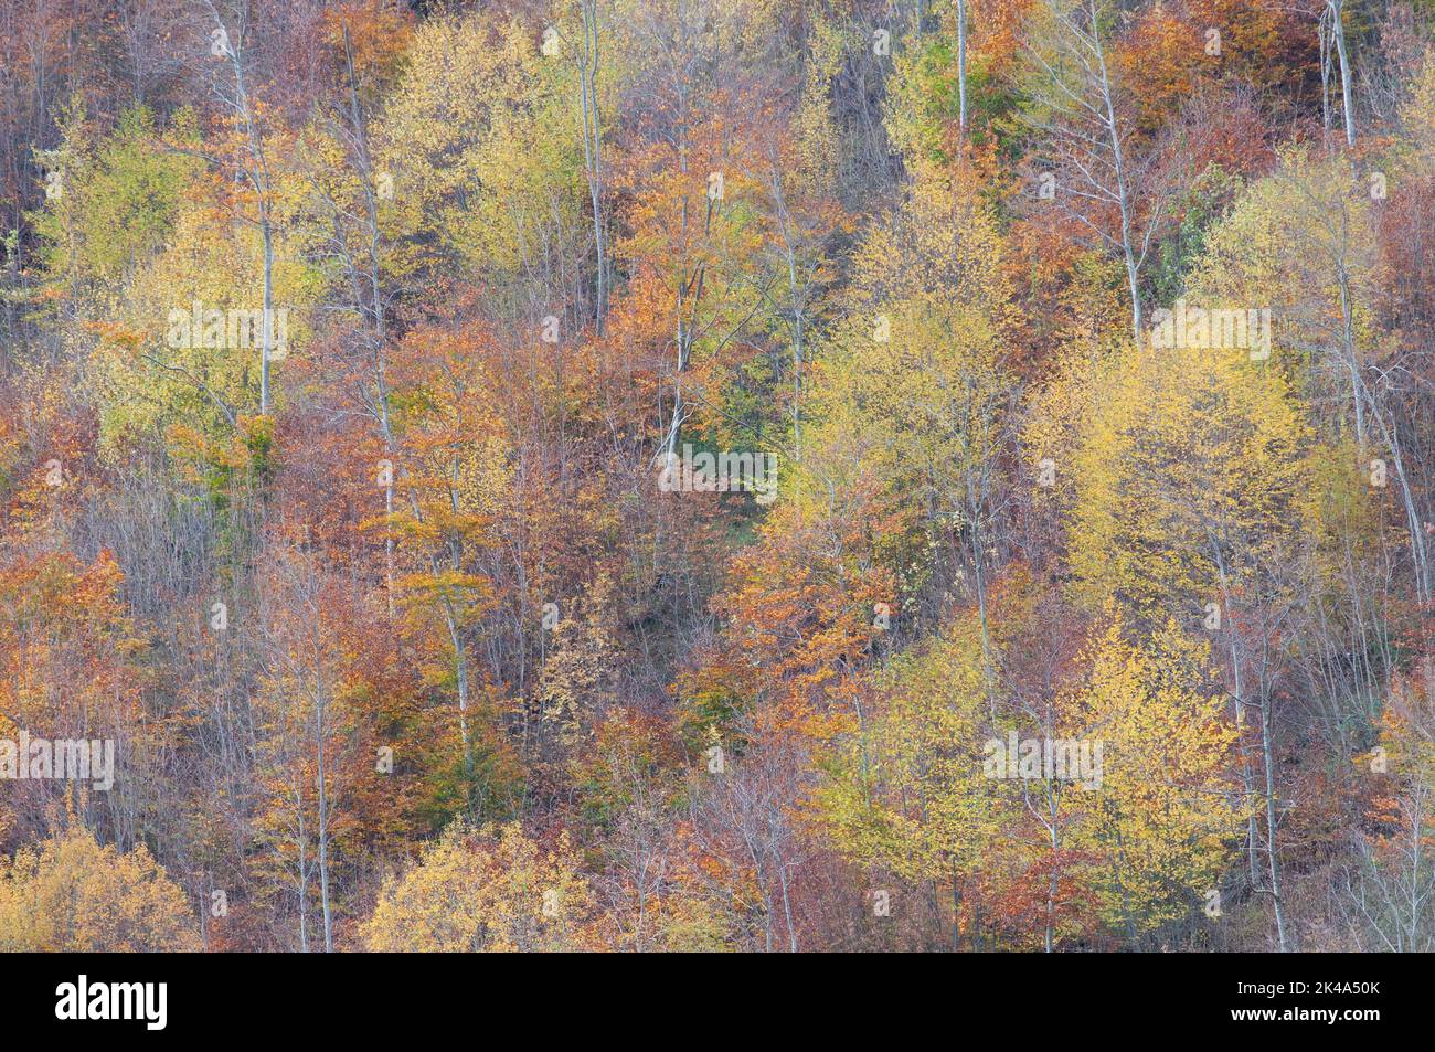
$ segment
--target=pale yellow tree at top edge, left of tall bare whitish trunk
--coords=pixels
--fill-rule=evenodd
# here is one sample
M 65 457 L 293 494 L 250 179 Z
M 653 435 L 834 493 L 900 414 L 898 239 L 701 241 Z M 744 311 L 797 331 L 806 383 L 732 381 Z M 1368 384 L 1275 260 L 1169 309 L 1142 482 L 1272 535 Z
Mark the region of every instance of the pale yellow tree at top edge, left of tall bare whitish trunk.
M 531 324 L 548 313 L 544 297 L 558 314 L 558 303 L 584 301 L 590 192 L 573 46 L 486 11 L 442 10 L 418 26 L 373 128 L 380 225 L 399 243 L 390 267 L 482 284 Z

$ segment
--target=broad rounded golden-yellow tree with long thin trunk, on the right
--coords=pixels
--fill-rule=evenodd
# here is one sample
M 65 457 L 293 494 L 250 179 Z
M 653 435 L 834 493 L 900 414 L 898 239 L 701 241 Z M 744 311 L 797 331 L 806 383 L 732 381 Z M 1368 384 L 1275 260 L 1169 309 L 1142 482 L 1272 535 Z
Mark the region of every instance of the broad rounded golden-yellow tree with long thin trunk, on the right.
M 1247 347 L 1118 347 L 1069 377 L 1053 385 L 1048 418 L 1065 423 L 1038 425 L 1029 439 L 1071 479 L 1072 590 L 1092 610 L 1114 601 L 1147 630 L 1175 619 L 1213 633 L 1237 720 L 1247 709 L 1261 716 L 1266 868 L 1284 941 L 1267 613 L 1293 598 L 1274 568 L 1309 512 L 1309 423 L 1286 373 L 1251 362 Z M 1248 764 L 1244 774 L 1257 792 Z M 1251 817 L 1260 886 L 1257 842 Z

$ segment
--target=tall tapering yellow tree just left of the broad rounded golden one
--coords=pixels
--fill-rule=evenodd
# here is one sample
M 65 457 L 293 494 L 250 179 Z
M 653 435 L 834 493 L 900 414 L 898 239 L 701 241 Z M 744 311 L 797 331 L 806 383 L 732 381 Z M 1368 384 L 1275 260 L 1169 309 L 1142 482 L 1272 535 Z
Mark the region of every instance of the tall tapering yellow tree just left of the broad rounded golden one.
M 933 574 L 964 577 L 957 560 L 970 565 L 984 649 L 992 497 L 1015 386 L 1004 366 L 1013 309 L 1003 260 L 974 189 L 918 165 L 903 207 L 854 258 L 851 309 L 814 399 L 822 423 L 812 471 L 821 471 L 824 443 L 841 448 L 854 433 L 871 442 L 893 507 L 916 527 L 916 535 L 888 538 L 905 548 L 908 590 Z M 957 565 L 934 564 L 944 541 Z

